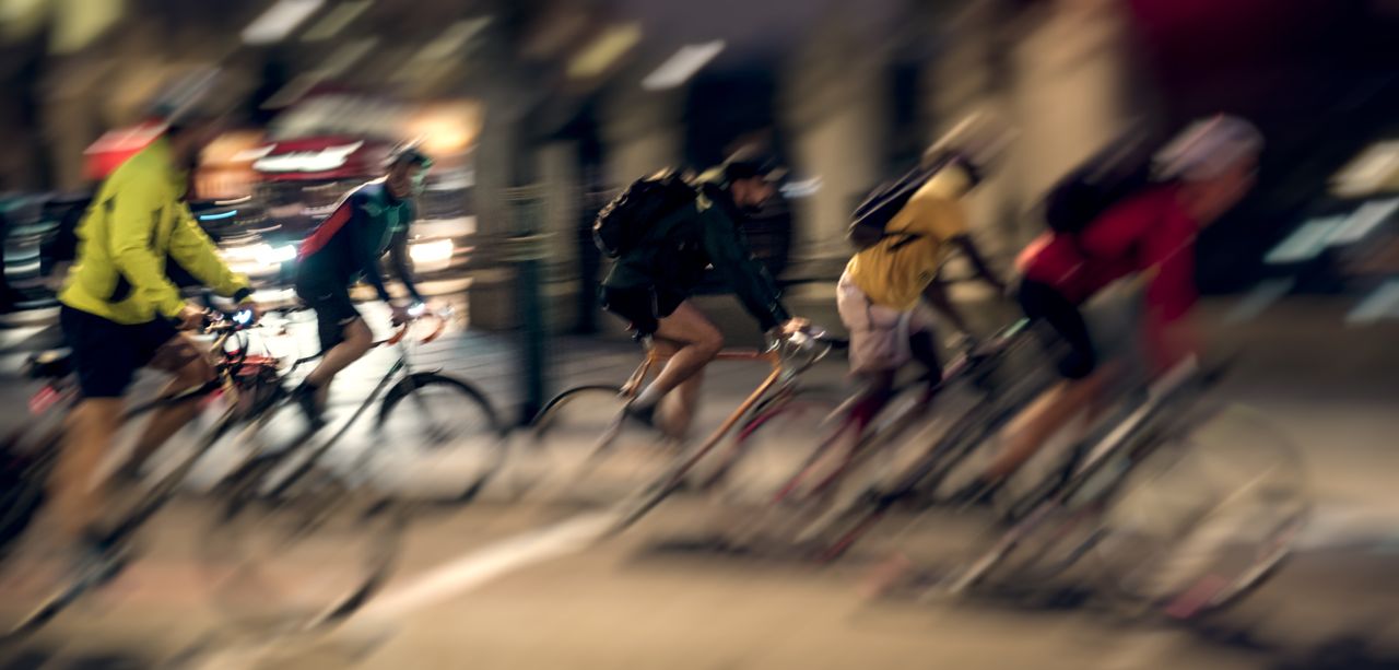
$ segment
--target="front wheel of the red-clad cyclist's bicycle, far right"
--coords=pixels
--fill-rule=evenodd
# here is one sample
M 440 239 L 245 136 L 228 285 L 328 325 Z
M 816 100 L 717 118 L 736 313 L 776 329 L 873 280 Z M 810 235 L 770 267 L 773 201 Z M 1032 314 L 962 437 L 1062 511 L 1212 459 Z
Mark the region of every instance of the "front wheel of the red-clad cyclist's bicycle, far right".
M 1298 452 L 1241 407 L 1165 434 L 1128 467 L 1094 555 L 1133 613 L 1192 618 L 1235 601 L 1284 559 L 1309 511 Z

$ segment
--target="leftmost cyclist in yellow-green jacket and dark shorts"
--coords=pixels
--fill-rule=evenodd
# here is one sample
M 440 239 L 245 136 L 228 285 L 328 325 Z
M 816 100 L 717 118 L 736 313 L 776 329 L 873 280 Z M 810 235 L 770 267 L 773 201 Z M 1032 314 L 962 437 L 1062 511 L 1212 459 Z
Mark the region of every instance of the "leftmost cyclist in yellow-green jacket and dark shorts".
M 229 271 L 185 203 L 187 171 L 220 129 L 217 112 L 199 105 L 157 105 L 164 134 L 99 187 L 78 222 L 77 262 L 59 295 L 59 323 L 73 348 L 81 400 L 67 420 L 53 474 L 55 508 L 60 530 L 87 550 L 85 558 L 105 565 L 115 553 L 111 534 L 99 526 L 102 485 L 91 483 L 122 424 L 122 396 L 133 375 L 143 366 L 172 373 L 168 393 L 214 375 L 179 333 L 199 326 L 204 311 L 180 297 L 165 274 L 166 259 L 256 316 L 248 278 Z M 197 403 L 158 410 L 126 471 L 139 470 L 196 411 Z

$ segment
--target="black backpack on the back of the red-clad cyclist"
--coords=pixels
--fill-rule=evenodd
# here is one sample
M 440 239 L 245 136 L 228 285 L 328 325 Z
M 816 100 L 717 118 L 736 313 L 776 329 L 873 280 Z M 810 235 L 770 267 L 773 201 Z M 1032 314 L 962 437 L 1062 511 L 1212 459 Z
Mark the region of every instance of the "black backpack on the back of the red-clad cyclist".
M 1109 143 L 1049 189 L 1045 224 L 1077 235 L 1115 204 L 1146 190 L 1153 183 L 1154 150 L 1156 143 L 1136 130 Z

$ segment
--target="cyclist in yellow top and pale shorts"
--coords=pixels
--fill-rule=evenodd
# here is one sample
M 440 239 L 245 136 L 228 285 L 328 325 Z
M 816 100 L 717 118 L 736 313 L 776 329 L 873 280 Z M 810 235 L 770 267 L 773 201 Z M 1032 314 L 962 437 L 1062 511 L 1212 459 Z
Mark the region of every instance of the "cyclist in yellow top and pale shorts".
M 884 236 L 845 266 L 837 284 L 837 308 L 851 333 L 851 372 L 866 385 L 865 397 L 853 410 L 858 428 L 888 403 L 894 376 L 909 358 L 928 371 L 925 401 L 932 400 L 932 390 L 942 382 L 932 319 L 921 298 L 937 306 L 960 333 L 968 333 L 937 280 L 949 245 L 968 257 L 978 278 L 996 288 L 997 295 L 1006 294 L 1006 285 L 968 235 L 960 201 L 977 187 L 1003 145 L 1004 133 L 983 117 L 958 124 L 923 154 L 921 168 L 936 172 L 890 218 Z

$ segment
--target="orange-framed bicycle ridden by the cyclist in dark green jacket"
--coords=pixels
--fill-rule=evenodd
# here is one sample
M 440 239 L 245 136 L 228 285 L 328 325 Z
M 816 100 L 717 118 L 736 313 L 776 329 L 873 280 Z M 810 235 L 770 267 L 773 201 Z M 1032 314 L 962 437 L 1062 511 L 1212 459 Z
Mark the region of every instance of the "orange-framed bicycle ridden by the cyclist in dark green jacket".
M 824 333 L 809 329 L 778 338 L 762 351 L 720 351 L 716 357 L 718 361 L 767 362 L 771 371 L 704 442 L 680 453 L 659 450 L 662 473 L 651 477 L 652 481 L 639 491 L 632 488 L 635 485 L 632 477 L 621 477 L 623 485 L 632 492 L 617 505 L 617 519 L 610 532 L 625 530 L 681 488 L 695 466 L 753 413 L 790 400 L 796 394 L 796 383 L 802 372 L 816 365 L 841 344 L 841 340 L 825 337 Z M 561 442 L 564 441 L 561 436 L 586 436 L 585 439 L 590 443 L 581 459 L 582 463 L 565 474 L 568 484 L 578 484 L 581 480 L 589 478 L 597 469 L 600 459 L 618 450 L 617 443 L 625 427 L 623 408 L 639 393 L 648 375 L 663 362 L 665 355 L 653 347 L 648 347 L 641 365 L 621 386 L 578 386 L 564 390 L 544 404 L 544 408 L 530 422 L 536 448 L 541 449 L 551 438 Z M 599 422 L 603 424 L 600 429 Z M 653 441 L 648 442 L 645 449 L 651 455 L 658 455 Z

